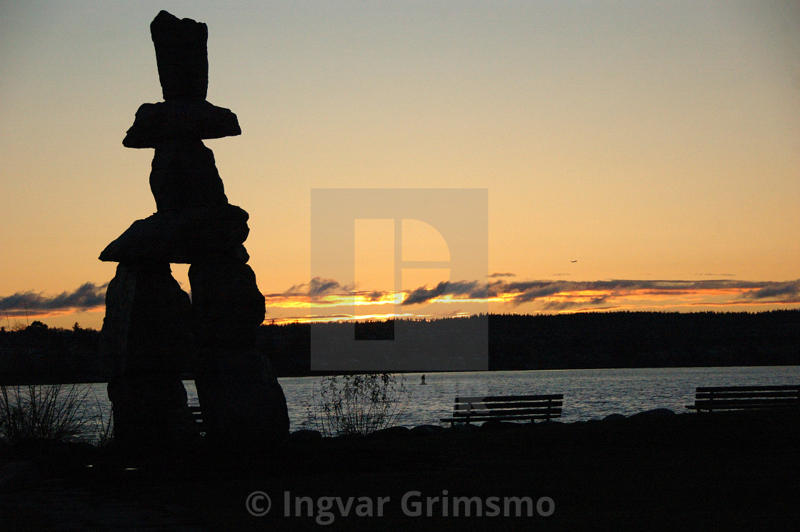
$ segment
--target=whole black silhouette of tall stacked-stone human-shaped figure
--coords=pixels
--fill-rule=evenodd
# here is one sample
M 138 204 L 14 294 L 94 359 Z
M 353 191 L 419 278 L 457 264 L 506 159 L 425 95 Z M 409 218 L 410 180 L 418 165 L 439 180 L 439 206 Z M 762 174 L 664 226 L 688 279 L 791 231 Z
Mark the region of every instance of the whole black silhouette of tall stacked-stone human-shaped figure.
M 257 349 L 264 297 L 243 245 L 248 214 L 230 205 L 206 138 L 241 134 L 230 110 L 206 101 L 205 24 L 161 11 L 150 24 L 163 102 L 139 107 L 122 144 L 154 148 L 157 212 L 100 254 L 118 262 L 106 291 L 103 351 L 120 446 L 183 450 L 200 434 L 186 406 L 181 362 L 194 361 L 206 438 L 252 450 L 286 438 L 286 398 Z M 191 299 L 170 263 L 190 264 Z

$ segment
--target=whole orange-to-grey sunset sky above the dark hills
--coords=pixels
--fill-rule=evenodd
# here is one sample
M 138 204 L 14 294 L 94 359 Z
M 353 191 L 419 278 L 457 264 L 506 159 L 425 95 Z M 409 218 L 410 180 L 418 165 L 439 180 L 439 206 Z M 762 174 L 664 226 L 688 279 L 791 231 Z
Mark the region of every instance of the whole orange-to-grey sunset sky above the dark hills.
M 206 146 L 267 320 L 800 306 L 798 2 L 10 1 L 0 325 L 102 325 L 98 254 L 155 210 L 153 150 L 122 138 L 162 99 L 162 9 L 209 26 L 208 100 L 242 135 Z M 312 272 L 311 191 L 335 188 L 486 190 L 486 274 L 395 286 L 379 219 L 352 276 Z M 402 260 L 449 259 L 397 223 Z

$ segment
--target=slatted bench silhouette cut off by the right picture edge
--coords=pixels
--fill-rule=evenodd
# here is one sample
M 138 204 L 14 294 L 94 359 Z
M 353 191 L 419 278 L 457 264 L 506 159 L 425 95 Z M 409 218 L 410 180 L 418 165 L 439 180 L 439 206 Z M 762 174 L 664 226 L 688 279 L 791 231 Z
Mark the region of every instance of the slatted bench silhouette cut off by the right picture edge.
M 690 410 L 800 409 L 800 385 L 698 386 Z

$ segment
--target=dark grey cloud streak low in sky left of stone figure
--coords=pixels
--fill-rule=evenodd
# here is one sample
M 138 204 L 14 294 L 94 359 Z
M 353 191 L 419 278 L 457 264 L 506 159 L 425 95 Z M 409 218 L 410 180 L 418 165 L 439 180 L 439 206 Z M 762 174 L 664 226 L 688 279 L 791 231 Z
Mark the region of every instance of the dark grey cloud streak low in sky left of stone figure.
M 58 295 L 45 295 L 42 292 L 28 290 L 16 294 L 0 297 L 0 311 L 11 316 L 30 314 L 60 313 L 67 310 L 91 310 L 106 304 L 106 287 L 86 282 L 72 292 L 62 292 Z

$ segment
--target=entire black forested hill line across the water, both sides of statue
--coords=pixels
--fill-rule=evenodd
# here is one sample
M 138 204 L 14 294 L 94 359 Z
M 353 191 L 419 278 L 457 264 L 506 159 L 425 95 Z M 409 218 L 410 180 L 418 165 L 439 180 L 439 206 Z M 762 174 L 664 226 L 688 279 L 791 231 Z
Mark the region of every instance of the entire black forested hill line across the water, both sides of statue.
M 390 340 L 394 322 L 363 322 L 356 339 Z M 314 326 L 332 332 L 347 323 Z M 488 330 L 490 370 L 555 370 L 692 366 L 800 365 L 800 310 L 759 313 L 608 312 L 489 314 L 404 321 L 403 331 L 434 339 L 465 330 Z M 475 327 L 475 329 L 472 329 Z M 279 377 L 312 374 L 310 324 L 264 325 L 259 348 Z M 405 334 L 405 333 L 404 333 Z M 0 329 L 0 384 L 106 382 L 100 333 L 51 329 L 34 322 Z M 182 360 L 191 373 L 191 360 Z

